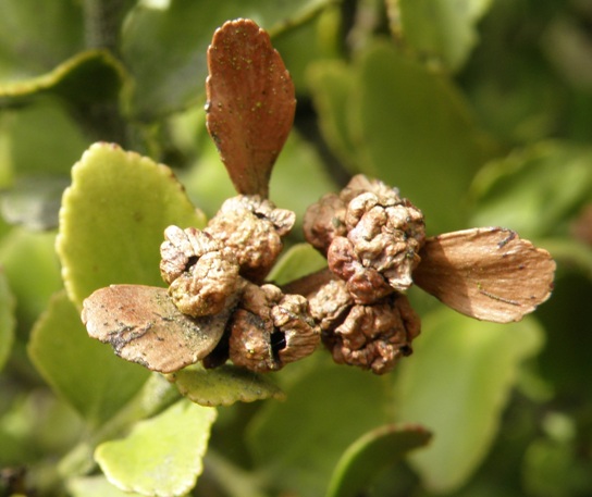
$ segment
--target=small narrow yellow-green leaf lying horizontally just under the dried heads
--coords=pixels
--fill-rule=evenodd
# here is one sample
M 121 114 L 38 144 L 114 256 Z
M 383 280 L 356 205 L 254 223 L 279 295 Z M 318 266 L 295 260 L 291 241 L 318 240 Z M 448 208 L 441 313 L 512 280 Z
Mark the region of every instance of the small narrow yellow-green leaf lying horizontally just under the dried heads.
M 231 406 L 285 395 L 268 376 L 225 364 L 206 370 L 201 364 L 185 368 L 166 376 L 181 395 L 201 406 Z

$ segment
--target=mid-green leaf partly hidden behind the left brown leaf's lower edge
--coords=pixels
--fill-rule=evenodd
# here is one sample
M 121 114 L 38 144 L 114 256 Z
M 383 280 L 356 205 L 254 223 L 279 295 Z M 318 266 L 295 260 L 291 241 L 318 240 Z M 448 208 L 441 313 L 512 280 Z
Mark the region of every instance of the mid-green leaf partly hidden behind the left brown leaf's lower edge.
M 28 353 L 51 387 L 90 424 L 111 418 L 149 372 L 88 337 L 65 293 L 57 294 L 32 331 Z

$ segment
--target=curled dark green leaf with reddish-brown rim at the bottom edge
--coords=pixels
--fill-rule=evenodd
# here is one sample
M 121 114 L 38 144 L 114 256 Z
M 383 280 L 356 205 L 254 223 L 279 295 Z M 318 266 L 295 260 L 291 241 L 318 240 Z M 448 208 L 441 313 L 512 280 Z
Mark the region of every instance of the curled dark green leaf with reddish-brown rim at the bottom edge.
M 362 495 L 372 477 L 399 462 L 410 450 L 430 442 L 421 426 L 387 424 L 362 435 L 344 452 L 329 484 L 326 497 Z

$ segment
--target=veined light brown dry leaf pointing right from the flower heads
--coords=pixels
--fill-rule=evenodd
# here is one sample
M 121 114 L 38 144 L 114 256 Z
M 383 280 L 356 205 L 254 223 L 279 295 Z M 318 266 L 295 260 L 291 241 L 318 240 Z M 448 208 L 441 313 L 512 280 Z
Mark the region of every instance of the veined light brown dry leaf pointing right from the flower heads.
M 546 250 L 509 229 L 483 227 L 428 238 L 414 282 L 446 306 L 479 320 L 519 321 L 553 289 Z

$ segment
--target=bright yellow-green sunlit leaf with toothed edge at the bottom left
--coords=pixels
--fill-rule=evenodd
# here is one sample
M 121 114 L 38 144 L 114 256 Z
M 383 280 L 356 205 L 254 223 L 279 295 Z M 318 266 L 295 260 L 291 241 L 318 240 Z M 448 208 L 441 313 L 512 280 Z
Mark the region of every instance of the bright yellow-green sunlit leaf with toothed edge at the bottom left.
M 137 423 L 127 437 L 101 444 L 95 459 L 107 479 L 124 492 L 182 496 L 201 474 L 215 415 L 212 408 L 178 401 Z

